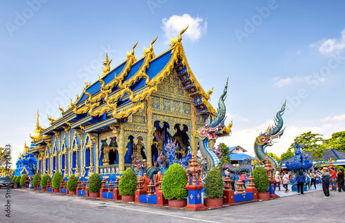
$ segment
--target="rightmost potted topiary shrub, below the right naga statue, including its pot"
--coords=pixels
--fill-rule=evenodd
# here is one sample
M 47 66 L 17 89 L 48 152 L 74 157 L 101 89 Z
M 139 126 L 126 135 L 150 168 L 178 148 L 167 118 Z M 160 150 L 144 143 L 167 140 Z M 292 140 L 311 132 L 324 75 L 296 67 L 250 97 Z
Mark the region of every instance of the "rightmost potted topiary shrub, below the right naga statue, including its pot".
M 255 178 L 254 184 L 257 188 L 257 199 L 270 200 L 270 180 L 264 168 L 257 166 L 253 171 L 253 177 Z

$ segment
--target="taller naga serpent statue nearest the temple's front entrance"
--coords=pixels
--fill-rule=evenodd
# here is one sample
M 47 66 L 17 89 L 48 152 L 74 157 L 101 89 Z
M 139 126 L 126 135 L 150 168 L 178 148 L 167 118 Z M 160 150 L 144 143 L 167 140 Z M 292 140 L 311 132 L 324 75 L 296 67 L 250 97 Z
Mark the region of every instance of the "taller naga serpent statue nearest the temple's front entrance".
M 208 167 L 210 168 L 212 168 L 213 166 L 217 166 L 220 161 L 216 153 L 213 152 L 212 149 L 208 146 L 208 142 L 210 140 L 217 139 L 216 133 L 223 130 L 224 128 L 224 121 L 226 119 L 224 100 L 226 99 L 227 92 L 228 80 L 226 80 L 223 94 L 221 94 L 221 96 L 219 97 L 217 114 L 213 118 L 212 122 L 210 121 L 210 117 L 208 117 L 208 120 L 205 122 L 204 126 L 197 130 L 201 155 L 204 157 L 204 159 L 207 160 Z

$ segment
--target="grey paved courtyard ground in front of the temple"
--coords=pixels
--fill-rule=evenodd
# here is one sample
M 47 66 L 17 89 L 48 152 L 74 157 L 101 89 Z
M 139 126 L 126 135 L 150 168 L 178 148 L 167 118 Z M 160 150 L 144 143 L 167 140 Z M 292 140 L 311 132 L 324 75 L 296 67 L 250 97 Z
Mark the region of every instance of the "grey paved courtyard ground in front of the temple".
M 192 212 L 29 189 L 11 189 L 10 196 L 11 217 L 6 217 L 3 209 L 0 222 L 342 222 L 345 199 L 343 192 L 331 192 L 331 198 L 322 198 L 319 190 Z M 4 207 L 6 189 L 0 189 L 0 197 Z

